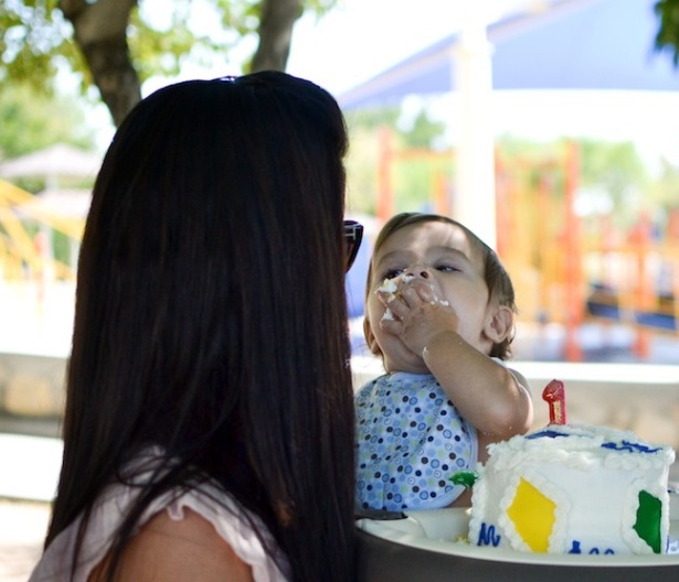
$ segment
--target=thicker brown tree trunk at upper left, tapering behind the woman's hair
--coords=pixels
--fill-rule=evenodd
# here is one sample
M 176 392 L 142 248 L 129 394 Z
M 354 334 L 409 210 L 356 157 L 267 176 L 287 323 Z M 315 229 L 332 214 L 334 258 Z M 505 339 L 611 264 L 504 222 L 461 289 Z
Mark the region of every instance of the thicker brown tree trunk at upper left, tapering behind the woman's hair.
M 129 15 L 136 6 L 137 0 L 59 1 L 59 8 L 73 24 L 75 42 L 116 127 L 141 99 L 126 36 Z

